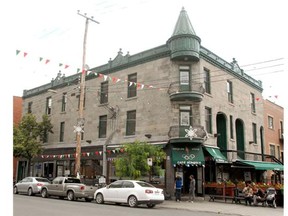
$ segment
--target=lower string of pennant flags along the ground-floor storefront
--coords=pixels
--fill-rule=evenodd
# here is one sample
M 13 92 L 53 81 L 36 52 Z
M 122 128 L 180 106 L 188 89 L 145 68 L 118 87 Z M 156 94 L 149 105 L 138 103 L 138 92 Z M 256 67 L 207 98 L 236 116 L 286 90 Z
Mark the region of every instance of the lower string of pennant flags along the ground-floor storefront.
M 106 150 L 107 154 L 111 155 L 111 154 L 118 154 L 118 153 L 123 153 L 125 152 L 124 148 L 120 148 L 120 149 L 113 149 L 113 150 Z M 95 152 L 82 152 L 81 155 L 83 157 L 90 157 L 90 156 L 98 156 L 98 155 L 102 155 L 103 151 L 95 151 Z M 47 158 L 59 158 L 59 159 L 64 159 L 64 158 L 76 158 L 77 153 L 73 153 L 73 154 L 49 154 L 49 155 L 38 155 L 39 158 L 43 158 L 43 159 L 47 159 Z

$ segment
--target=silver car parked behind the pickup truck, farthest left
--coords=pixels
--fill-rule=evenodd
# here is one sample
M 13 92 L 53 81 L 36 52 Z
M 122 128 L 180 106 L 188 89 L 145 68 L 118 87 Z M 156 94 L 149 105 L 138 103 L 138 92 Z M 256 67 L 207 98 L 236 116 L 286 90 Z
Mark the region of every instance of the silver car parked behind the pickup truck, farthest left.
M 27 193 L 29 196 L 40 194 L 44 185 L 50 184 L 47 178 L 26 177 L 14 185 L 14 194 Z

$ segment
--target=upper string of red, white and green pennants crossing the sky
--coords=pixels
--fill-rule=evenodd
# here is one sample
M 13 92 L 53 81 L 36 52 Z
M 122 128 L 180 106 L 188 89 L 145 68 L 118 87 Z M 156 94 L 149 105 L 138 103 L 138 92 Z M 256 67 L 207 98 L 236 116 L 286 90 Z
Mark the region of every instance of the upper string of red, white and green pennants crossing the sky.
M 20 53 L 23 53 L 23 57 L 24 57 L 24 58 L 27 57 L 27 55 L 28 55 L 27 52 L 22 52 L 21 50 L 16 50 L 16 55 L 17 55 L 17 56 L 20 56 Z M 39 61 L 40 61 L 40 62 L 44 62 L 45 64 L 48 64 L 48 63 L 51 62 L 50 59 L 44 59 L 43 57 L 39 57 Z M 63 63 L 58 63 L 58 66 L 59 66 L 59 67 L 64 67 L 64 69 L 67 69 L 67 68 L 70 67 L 70 65 L 68 65 L 68 64 L 63 64 Z M 80 70 L 81 70 L 80 68 L 77 68 L 77 73 L 79 73 Z M 83 68 L 83 69 L 82 69 L 82 73 L 86 73 L 86 72 L 87 72 L 87 70 L 85 70 L 85 69 Z M 137 89 L 143 89 L 144 87 L 146 87 L 146 88 L 149 88 L 149 89 L 165 90 L 164 88 L 157 88 L 157 87 L 154 87 L 153 85 L 147 85 L 147 84 L 142 84 L 142 83 L 131 82 L 131 81 L 128 81 L 128 80 L 126 80 L 126 79 L 125 79 L 125 80 L 121 80 L 121 79 L 119 79 L 119 78 L 117 78 L 117 77 L 110 77 L 110 76 L 108 76 L 108 75 L 104 75 L 104 74 L 97 73 L 97 72 L 92 72 L 92 73 L 95 74 L 96 76 L 99 76 L 99 78 L 103 78 L 104 81 L 107 81 L 107 80 L 109 79 L 109 80 L 112 81 L 114 84 L 116 84 L 116 83 L 118 83 L 118 82 L 129 82 L 129 87 L 131 87 L 132 85 L 134 85 L 134 86 L 137 87 Z M 269 95 L 268 97 L 269 97 L 270 99 L 271 99 L 272 97 L 274 97 L 275 99 L 278 99 L 278 95 L 273 95 L 273 96 Z M 255 98 L 255 99 L 256 99 L 256 101 L 260 101 L 261 98 L 257 97 L 257 98 Z

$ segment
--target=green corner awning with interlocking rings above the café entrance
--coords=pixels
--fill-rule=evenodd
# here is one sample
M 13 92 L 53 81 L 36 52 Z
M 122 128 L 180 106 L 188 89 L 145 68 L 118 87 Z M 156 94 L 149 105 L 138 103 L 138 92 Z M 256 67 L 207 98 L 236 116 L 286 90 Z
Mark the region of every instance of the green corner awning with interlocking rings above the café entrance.
M 172 163 L 173 165 L 204 165 L 202 146 L 173 146 Z

